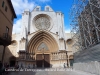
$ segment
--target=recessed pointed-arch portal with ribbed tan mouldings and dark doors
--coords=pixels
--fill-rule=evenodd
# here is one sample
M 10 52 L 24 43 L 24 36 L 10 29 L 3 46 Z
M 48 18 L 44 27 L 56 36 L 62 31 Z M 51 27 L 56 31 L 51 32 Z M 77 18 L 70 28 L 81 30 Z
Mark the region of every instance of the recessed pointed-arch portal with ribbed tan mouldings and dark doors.
M 51 52 L 58 50 L 58 44 L 54 37 L 48 32 L 41 31 L 36 33 L 28 44 L 28 54 L 35 57 L 36 66 L 38 68 L 50 67 Z M 34 54 L 34 56 L 32 56 Z

